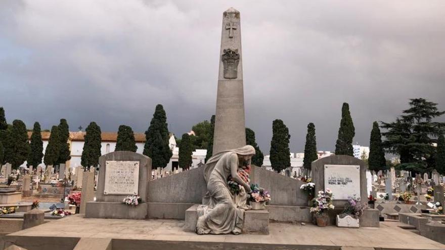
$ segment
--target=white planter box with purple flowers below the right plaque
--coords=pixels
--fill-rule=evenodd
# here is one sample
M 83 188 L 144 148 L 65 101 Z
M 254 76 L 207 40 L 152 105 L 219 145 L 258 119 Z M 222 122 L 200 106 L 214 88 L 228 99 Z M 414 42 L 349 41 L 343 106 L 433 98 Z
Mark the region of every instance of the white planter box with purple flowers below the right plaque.
M 364 210 L 365 204 L 360 201 L 360 198 L 349 197 L 343 212 L 337 215 L 337 227 L 359 227 L 359 218 Z

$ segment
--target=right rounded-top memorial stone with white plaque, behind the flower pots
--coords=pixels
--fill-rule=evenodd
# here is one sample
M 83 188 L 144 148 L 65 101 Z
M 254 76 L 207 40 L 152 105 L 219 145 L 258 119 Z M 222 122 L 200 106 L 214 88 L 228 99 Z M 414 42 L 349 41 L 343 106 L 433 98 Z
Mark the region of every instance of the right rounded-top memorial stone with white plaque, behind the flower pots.
M 364 161 L 343 155 L 332 155 L 312 162 L 311 172 L 315 183 L 315 193 L 332 190 L 334 210 L 328 212 L 329 224 L 335 224 L 335 218 L 340 214 L 348 197 L 360 197 L 363 203 L 367 203 L 367 166 Z M 360 226 L 378 227 L 379 211 L 366 209 L 360 218 Z

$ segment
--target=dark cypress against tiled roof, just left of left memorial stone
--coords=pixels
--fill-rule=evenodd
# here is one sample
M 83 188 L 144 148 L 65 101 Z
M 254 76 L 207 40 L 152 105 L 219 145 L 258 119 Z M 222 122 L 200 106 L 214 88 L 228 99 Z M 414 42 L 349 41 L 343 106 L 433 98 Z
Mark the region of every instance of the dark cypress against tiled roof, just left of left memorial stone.
M 101 128 L 95 123 L 91 122 L 85 129 L 84 144 L 80 164 L 84 170 L 90 170 L 91 167 L 99 165 L 99 157 L 101 157 Z

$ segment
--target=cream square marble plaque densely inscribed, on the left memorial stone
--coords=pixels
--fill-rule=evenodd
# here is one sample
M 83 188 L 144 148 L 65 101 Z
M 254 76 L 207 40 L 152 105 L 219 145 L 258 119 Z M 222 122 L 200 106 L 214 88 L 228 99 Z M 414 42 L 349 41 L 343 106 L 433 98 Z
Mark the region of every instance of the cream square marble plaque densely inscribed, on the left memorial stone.
M 106 161 L 104 194 L 137 195 L 139 161 Z

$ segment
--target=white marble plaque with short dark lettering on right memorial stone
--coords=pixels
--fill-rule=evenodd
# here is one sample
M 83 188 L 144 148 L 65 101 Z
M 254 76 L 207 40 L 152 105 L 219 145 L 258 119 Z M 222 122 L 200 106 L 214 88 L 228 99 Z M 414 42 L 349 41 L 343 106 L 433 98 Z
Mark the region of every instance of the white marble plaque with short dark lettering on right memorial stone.
M 360 197 L 359 165 L 325 165 L 325 189 L 332 190 L 333 199 Z

